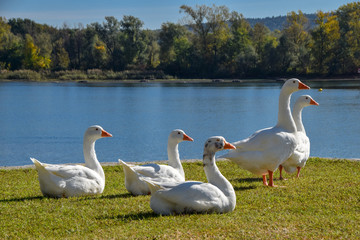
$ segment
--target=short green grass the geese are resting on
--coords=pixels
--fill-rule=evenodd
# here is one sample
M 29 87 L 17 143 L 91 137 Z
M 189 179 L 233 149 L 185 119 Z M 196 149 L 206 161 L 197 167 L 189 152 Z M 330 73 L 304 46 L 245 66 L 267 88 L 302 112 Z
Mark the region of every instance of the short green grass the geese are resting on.
M 200 162 L 183 165 L 187 179 L 206 181 Z M 0 239 L 359 239 L 360 162 L 311 158 L 299 179 L 277 180 L 281 188 L 218 166 L 235 210 L 178 216 L 158 216 L 150 196 L 128 194 L 119 166 L 104 167 L 101 196 L 67 199 L 43 197 L 34 169 L 0 170 Z

